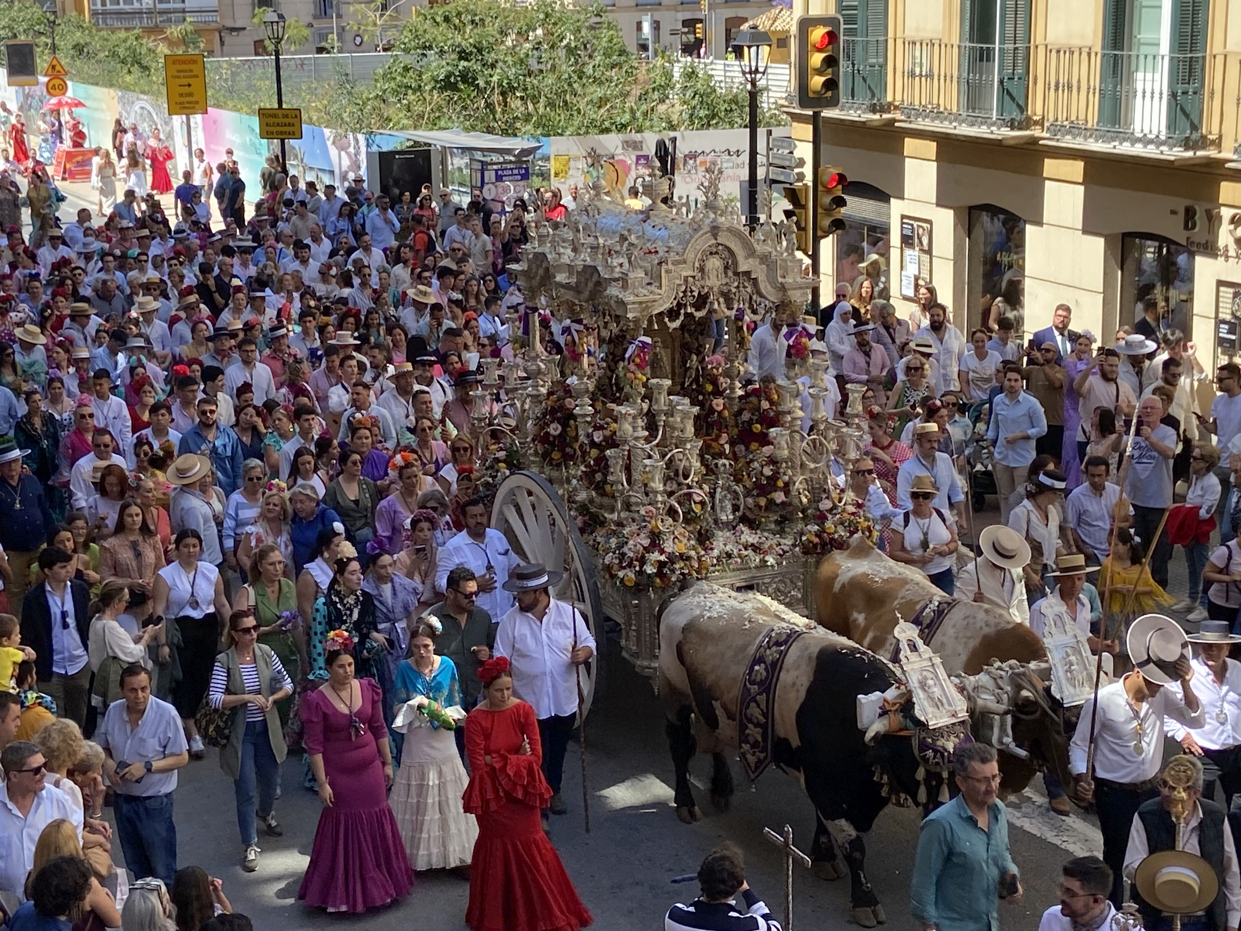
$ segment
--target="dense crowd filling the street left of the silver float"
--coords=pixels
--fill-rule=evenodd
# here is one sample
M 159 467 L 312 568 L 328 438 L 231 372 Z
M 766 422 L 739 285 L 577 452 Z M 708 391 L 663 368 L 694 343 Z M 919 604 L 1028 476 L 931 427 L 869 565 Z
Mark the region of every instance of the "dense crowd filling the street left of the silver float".
M 247 871 L 303 756 L 310 906 L 457 869 L 475 931 L 589 924 L 549 832 L 594 641 L 475 480 L 472 392 L 511 351 L 526 205 L 320 194 L 274 156 L 252 204 L 231 158 L 197 151 L 174 189 L 154 133 L 118 123 L 112 149 L 98 212 L 61 223 L 30 196 L 30 232 L 17 212 L 0 246 L 0 765 L 30 803 L 0 883 L 14 921 L 240 927 L 179 893 L 201 878 L 230 911 L 179 869 L 174 816 L 179 771 L 218 747 Z M 89 884 L 37 853 L 53 834 Z

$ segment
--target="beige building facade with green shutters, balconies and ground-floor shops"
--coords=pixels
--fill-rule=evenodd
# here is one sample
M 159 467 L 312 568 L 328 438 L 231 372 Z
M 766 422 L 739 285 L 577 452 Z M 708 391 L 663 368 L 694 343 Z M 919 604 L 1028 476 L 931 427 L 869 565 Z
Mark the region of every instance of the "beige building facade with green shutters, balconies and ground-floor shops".
M 797 2 L 845 30 L 825 294 L 877 252 L 898 313 L 930 282 L 967 333 L 1065 303 L 1111 340 L 1154 298 L 1205 365 L 1239 354 L 1241 0 Z

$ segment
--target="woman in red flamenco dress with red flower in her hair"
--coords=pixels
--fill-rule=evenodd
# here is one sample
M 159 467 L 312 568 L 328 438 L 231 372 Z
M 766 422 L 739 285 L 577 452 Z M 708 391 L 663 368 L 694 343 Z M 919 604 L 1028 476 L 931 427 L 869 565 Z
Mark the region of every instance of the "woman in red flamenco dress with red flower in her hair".
M 478 678 L 486 701 L 465 721 L 472 776 L 462 802 L 478 818 L 465 924 L 472 931 L 577 931 L 591 912 L 539 817 L 551 801 L 539 721 L 513 698 L 508 659 L 486 660 Z

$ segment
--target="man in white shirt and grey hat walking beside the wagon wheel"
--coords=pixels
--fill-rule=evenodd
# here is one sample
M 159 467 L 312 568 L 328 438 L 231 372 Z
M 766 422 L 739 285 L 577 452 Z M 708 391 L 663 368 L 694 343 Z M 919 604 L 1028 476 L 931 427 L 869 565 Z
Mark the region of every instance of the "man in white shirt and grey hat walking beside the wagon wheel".
M 581 667 L 594 655 L 594 637 L 572 605 L 551 597 L 562 572 L 541 562 L 516 566 L 504 590 L 516 606 L 500 619 L 493 653 L 511 664 L 513 694 L 530 703 L 539 719 L 542 770 L 551 786 L 551 812 L 566 812 L 560 792 L 565 751 L 582 695 Z M 546 812 L 544 813 L 546 818 Z

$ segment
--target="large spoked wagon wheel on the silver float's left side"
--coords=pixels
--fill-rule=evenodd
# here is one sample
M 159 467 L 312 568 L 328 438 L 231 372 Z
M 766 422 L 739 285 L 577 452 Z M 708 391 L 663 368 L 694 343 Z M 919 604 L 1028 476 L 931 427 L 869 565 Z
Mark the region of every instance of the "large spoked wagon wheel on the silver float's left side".
M 591 710 L 596 690 L 603 690 L 603 653 L 607 649 L 593 554 L 582 542 L 563 499 L 547 479 L 534 472 L 515 472 L 504 479 L 491 505 L 491 526 L 504 534 L 524 562 L 542 562 L 565 573 L 551 588 L 551 595 L 576 607 L 594 637 L 594 657 L 577 668 L 582 684 L 578 721 L 582 721 Z

